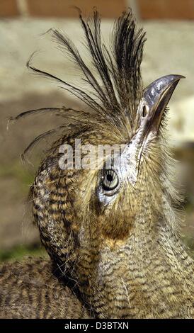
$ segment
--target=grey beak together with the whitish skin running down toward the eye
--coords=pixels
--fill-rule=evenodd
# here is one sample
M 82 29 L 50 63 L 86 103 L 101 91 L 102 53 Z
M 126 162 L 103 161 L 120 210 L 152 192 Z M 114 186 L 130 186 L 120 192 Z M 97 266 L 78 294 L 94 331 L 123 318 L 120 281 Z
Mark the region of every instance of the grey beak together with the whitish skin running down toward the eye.
M 127 180 L 131 184 L 137 181 L 144 142 L 147 137 L 152 140 L 159 132 L 162 115 L 180 79 L 183 79 L 182 75 L 166 75 L 144 89 L 137 111 L 138 129 L 123 150 L 118 168 L 122 171 L 122 176 L 127 174 Z

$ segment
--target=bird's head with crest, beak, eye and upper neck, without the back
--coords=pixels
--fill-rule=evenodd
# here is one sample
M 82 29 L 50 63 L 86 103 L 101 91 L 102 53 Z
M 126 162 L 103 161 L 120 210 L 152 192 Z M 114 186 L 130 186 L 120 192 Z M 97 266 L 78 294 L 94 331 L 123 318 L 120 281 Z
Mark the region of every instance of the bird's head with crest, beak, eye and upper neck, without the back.
M 101 40 L 98 13 L 89 21 L 81 14 L 80 19 L 93 70 L 66 36 L 57 30 L 52 35 L 81 69 L 87 89 L 28 62 L 30 69 L 57 80 L 86 103 L 84 111 L 54 110 L 66 123 L 57 128 L 62 135 L 42 162 L 32 195 L 35 222 L 47 252 L 89 294 L 95 286 L 96 290 L 108 286 L 114 261 L 119 264 L 111 279 L 126 280 L 130 260 L 149 246 L 152 230 L 157 234 L 160 227 L 175 225 L 177 193 L 165 116 L 182 77 L 167 75 L 143 88 L 140 64 L 145 38 L 130 11 L 116 21 L 109 47 Z M 70 155 L 64 164 L 67 145 Z M 100 146 L 105 154 L 98 154 Z

